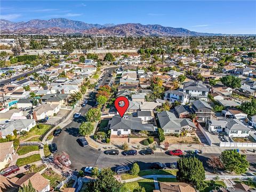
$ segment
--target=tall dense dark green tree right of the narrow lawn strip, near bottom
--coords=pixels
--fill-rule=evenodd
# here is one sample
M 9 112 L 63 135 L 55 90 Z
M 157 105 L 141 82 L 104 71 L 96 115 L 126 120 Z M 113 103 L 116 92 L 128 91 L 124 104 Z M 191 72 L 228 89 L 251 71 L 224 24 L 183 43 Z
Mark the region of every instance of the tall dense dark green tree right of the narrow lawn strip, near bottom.
M 204 166 L 196 157 L 179 158 L 177 161 L 177 180 L 193 183 L 198 190 L 202 190 L 205 180 Z

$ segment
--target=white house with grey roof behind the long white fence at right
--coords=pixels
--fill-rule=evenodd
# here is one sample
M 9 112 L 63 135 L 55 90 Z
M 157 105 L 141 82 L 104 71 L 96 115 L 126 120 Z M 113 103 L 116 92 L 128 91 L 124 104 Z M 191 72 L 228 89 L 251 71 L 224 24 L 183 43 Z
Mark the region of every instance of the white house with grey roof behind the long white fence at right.
M 248 137 L 249 127 L 245 126 L 238 119 L 209 119 L 207 122 L 209 132 L 226 132 L 229 137 Z

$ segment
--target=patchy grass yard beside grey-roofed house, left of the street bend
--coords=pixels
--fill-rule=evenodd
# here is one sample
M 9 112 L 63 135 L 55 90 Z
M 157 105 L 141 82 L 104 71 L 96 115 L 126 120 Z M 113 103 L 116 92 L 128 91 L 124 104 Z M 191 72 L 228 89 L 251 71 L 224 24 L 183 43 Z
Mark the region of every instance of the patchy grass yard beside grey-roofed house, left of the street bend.
M 36 136 L 36 141 L 39 141 L 39 136 L 51 129 L 51 125 L 37 124 L 26 135 L 20 137 L 20 140 L 26 140 L 30 137 Z M 35 137 L 31 138 L 34 139 Z M 32 141 L 29 139 L 30 141 Z M 34 140 L 34 141 L 35 141 Z

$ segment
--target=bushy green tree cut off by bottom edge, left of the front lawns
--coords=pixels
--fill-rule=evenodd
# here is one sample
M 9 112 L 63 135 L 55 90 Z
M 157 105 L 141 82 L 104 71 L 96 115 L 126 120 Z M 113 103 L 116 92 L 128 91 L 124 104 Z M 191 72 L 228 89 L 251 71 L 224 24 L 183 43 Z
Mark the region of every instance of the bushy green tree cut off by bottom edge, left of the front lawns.
M 102 169 L 98 179 L 91 181 L 87 185 L 88 191 L 94 192 L 119 192 L 123 184 L 116 180 L 114 172 L 110 168 Z

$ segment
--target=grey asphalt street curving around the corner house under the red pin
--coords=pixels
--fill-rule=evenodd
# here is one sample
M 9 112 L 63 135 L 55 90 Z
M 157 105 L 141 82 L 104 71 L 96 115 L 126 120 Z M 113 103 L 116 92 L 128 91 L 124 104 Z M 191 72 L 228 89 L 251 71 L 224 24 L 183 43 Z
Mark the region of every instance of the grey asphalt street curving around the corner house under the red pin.
M 101 85 L 108 83 L 107 80 L 111 79 L 109 74 L 113 68 L 108 69 L 109 71 L 103 77 Z M 87 112 L 87 110 L 95 105 L 95 92 L 92 93 L 86 107 L 81 108 L 80 112 L 82 116 Z M 97 166 L 99 168 L 103 167 L 116 167 L 120 165 L 131 166 L 132 163 L 137 162 L 140 165 L 141 170 L 149 169 L 149 165 L 152 162 L 166 163 L 169 166 L 170 163 L 177 162 L 180 157 L 169 156 L 165 153 L 155 153 L 154 155 L 142 156 L 138 154 L 137 156 L 123 156 L 119 154 L 118 156 L 107 156 L 103 151 L 95 150 L 91 147 L 81 147 L 79 146 L 77 139 L 80 137 L 78 134 L 79 125 L 85 121 L 84 117 L 79 119 L 74 119 L 69 125 L 63 128 L 62 133 L 59 137 L 53 139 L 54 143 L 57 143 L 59 151 L 65 151 L 69 154 L 71 165 L 70 168 L 73 170 L 80 170 L 85 166 Z M 203 162 L 204 166 L 207 167 L 206 161 L 209 158 L 219 156 L 219 154 L 199 154 L 196 155 Z M 251 169 L 256 169 L 256 155 L 247 155 L 248 161 L 251 163 Z

